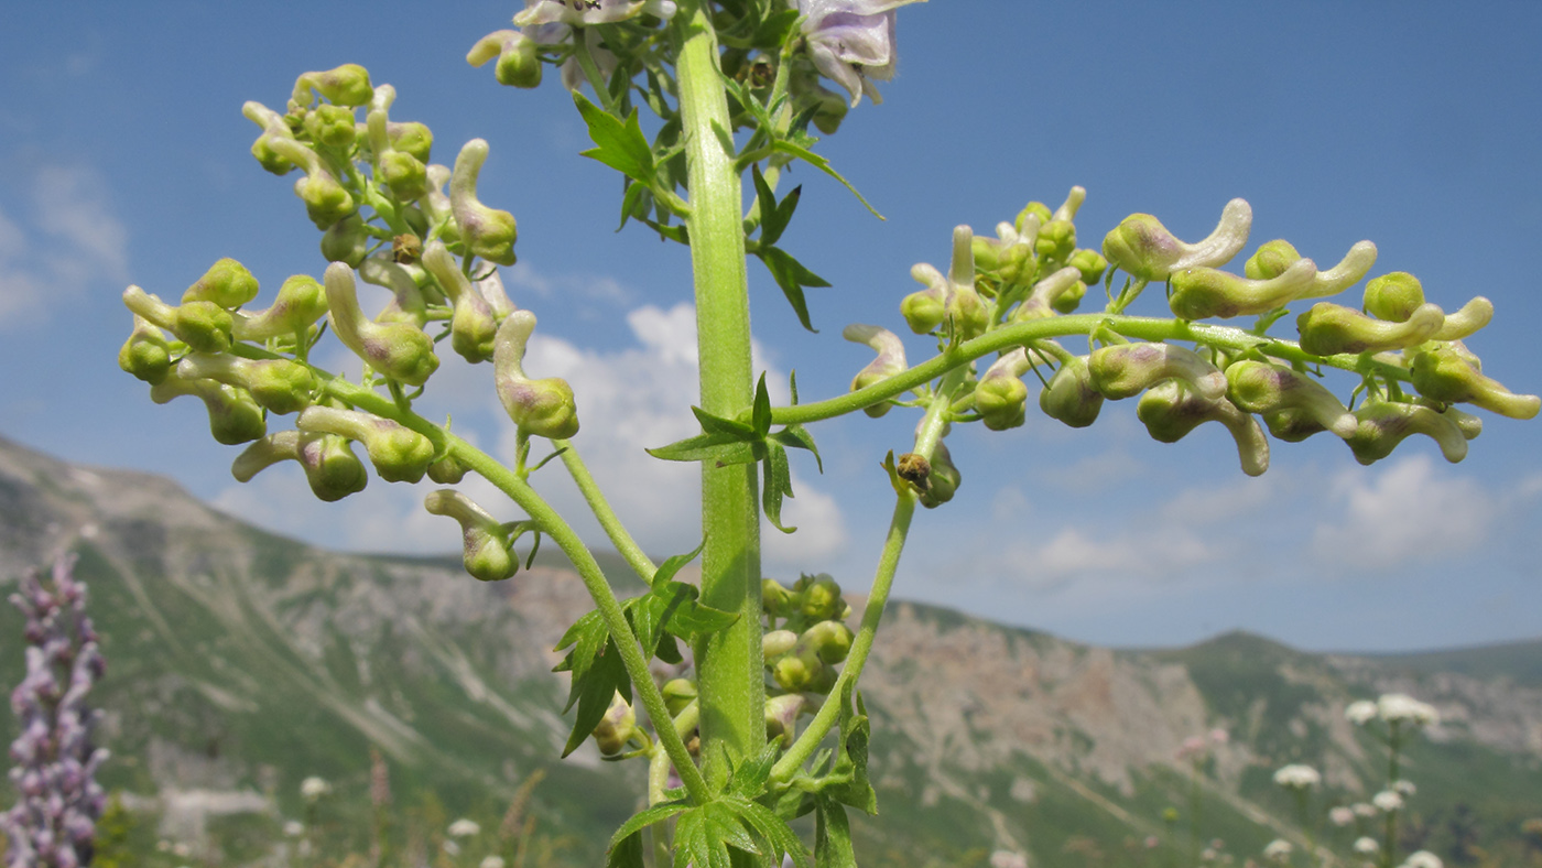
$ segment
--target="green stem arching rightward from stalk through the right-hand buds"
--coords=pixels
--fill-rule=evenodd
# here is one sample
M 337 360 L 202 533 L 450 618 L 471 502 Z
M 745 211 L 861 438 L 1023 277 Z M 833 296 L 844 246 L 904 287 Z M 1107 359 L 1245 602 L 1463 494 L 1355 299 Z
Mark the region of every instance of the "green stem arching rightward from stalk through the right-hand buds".
M 1278 341 L 1260 338 L 1251 331 L 1232 325 L 1207 325 L 1203 322 L 1186 322 L 1183 319 L 1158 319 L 1149 316 L 1110 316 L 1106 313 L 1078 313 L 1072 316 L 1053 316 L 1049 319 L 1030 319 L 996 328 L 973 341 L 965 341 L 958 347 L 933 356 L 910 370 L 874 382 L 867 389 L 859 389 L 848 395 L 816 401 L 813 404 L 797 404 L 794 407 L 774 407 L 771 421 L 779 426 L 794 422 L 817 422 L 871 407 L 890 398 L 904 395 L 917 385 L 942 376 L 948 370 L 968 364 L 981 356 L 1021 347 L 1029 341 L 1045 338 L 1066 338 L 1069 335 L 1092 335 L 1098 328 L 1106 328 L 1124 338 L 1140 338 L 1143 341 L 1194 341 L 1206 347 L 1221 350 L 1257 350 L 1264 355 L 1288 362 L 1305 362 L 1311 365 L 1328 365 L 1357 373 L 1375 373 L 1389 379 L 1409 378 L 1408 368 L 1372 358 L 1343 353 L 1337 356 L 1314 356 L 1301 350 L 1294 341 Z M 748 421 L 748 410 L 740 413 L 740 421 Z

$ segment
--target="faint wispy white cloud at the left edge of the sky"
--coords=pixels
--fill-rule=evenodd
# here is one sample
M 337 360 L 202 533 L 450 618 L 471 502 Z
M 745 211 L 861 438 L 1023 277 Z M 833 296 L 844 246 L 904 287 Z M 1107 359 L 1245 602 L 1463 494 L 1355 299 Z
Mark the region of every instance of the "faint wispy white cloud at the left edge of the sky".
M 96 173 L 45 165 L 31 173 L 25 214 L 0 211 L 0 322 L 20 325 L 128 273 L 128 230 Z

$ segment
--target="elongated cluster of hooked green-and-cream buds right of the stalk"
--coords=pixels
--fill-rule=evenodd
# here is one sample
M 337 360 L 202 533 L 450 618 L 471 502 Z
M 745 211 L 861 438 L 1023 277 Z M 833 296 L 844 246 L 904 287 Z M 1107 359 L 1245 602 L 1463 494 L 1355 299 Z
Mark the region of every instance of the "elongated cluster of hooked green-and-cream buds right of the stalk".
M 1229 202 L 1215 230 L 1195 242 L 1178 239 L 1150 214 L 1132 214 L 1098 251 L 1076 247 L 1073 220 L 1084 196 L 1073 188 L 1053 211 L 1030 202 L 1015 222 L 998 225 L 993 239 L 976 237 L 968 227 L 953 230 L 947 273 L 927 264 L 911 268 L 924 288 L 901 302 L 905 322 L 917 335 L 958 345 L 1015 324 L 1069 315 L 1089 285 L 1106 281 L 1110 315 L 1123 313 L 1147 284 L 1166 282 L 1167 305 L 1178 321 L 1258 316 L 1260 327 L 1237 330 L 1231 342 L 1207 345 L 1201 338 L 1192 348 L 1130 342 L 1106 328 L 1092 333 L 1087 355 L 1050 339 L 1024 341 L 993 361 L 975 362 L 967 378 L 971 395 L 954 402 L 951 421 L 978 419 L 992 430 L 1018 427 L 1035 381 L 1044 382 L 1039 409 L 1072 427 L 1096 421 L 1104 401 L 1140 396 L 1136 415 L 1153 439 L 1175 442 L 1204 422 L 1220 422 L 1237 444 L 1243 470 L 1257 476 L 1269 467 L 1266 432 L 1291 442 L 1329 432 L 1363 464 L 1386 458 L 1417 433 L 1431 438 L 1446 459 L 1460 461 L 1482 422 L 1457 404 L 1516 419 L 1530 419 L 1542 407 L 1536 395 L 1514 395 L 1483 375 L 1482 362 L 1463 344 L 1493 318 L 1488 299 L 1474 298 L 1446 313 L 1425 301 L 1412 274 L 1394 271 L 1366 282 L 1359 308 L 1315 301 L 1371 273 L 1377 251 L 1368 241 L 1352 245 L 1331 268 L 1318 268 L 1286 241 L 1271 241 L 1234 274 L 1221 267 L 1247 244 L 1247 202 Z M 1129 278 L 1113 291 L 1116 271 Z M 1303 301 L 1314 304 L 1295 319 L 1300 353 L 1271 355 L 1286 342 L 1271 344 L 1263 331 L 1288 313 L 1286 305 Z M 877 352 L 853 379 L 853 392 L 907 370 L 904 344 L 891 331 L 851 325 L 847 338 Z M 1308 372 L 1305 362 L 1314 356 L 1357 370 L 1368 398 L 1346 407 Z M 1049 370 L 1025 376 L 1041 365 Z M 925 390 L 917 395 L 925 396 Z M 891 402 L 867 412 L 880 415 Z M 945 459 L 947 453 L 941 455 Z M 930 464 L 936 463 L 934 456 Z M 897 472 L 910 478 L 904 461 Z M 910 481 L 925 495 L 930 467 L 916 476 Z

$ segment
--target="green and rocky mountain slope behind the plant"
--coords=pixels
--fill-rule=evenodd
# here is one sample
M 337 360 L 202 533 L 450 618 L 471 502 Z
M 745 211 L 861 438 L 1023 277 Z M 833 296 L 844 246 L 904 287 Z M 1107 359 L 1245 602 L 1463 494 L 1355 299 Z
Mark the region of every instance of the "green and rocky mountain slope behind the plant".
M 592 748 L 555 760 L 566 675 L 550 672 L 550 649 L 589 607 L 557 561 L 483 584 L 458 558 L 324 552 L 170 481 L 0 441 L 0 592 L 62 546 L 82 555 L 105 635 L 106 782 L 140 814 L 146 849 L 163 840 L 210 863 L 259 862 L 281 853 L 285 819 L 302 817 L 364 853 L 372 748 L 409 849 L 438 846 L 444 817 L 497 826 L 540 772 L 530 816 L 544 849 L 532 863 L 592 865 L 637 803 L 640 769 L 601 768 Z M 20 672 L 17 624 L 0 611 L 6 683 Z M 859 825 L 859 854 L 1146 865 L 1189 853 L 1198 819 L 1203 842 L 1221 839 L 1241 863 L 1274 837 L 1306 840 L 1271 780 L 1291 762 L 1323 771 L 1309 825 L 1346 853 L 1352 829 L 1321 816 L 1382 786 L 1385 749 L 1343 709 L 1397 691 L 1442 714 L 1408 757 L 1420 788 L 1408 843 L 1448 863 L 1523 859 L 1522 823 L 1542 817 L 1539 660 L 1542 643 L 1354 657 L 1244 634 L 1118 652 L 897 603 L 862 685 L 880 816 Z M 1224 745 L 1198 766 L 1180 760 L 1184 740 L 1218 728 Z M 324 817 L 299 799 L 308 775 L 333 783 Z

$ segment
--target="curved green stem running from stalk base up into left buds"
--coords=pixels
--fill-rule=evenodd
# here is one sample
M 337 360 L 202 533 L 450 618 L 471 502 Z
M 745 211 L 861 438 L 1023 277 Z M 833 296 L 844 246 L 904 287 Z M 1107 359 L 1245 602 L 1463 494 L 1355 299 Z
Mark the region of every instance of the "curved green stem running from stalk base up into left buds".
M 648 669 L 648 658 L 643 657 L 643 648 L 637 643 L 632 627 L 626 623 L 626 615 L 621 612 L 621 604 L 615 598 L 615 592 L 611 590 L 611 584 L 604 578 L 604 572 L 600 570 L 600 564 L 595 563 L 594 555 L 589 552 L 578 533 L 563 521 L 561 515 L 557 513 L 547 504 L 541 495 L 535 493 L 529 484 L 520 479 L 513 470 L 509 470 L 498 459 L 487 455 L 486 452 L 476 449 L 475 446 L 466 442 L 464 439 L 455 436 L 453 433 L 435 426 L 433 422 L 424 419 L 423 416 L 399 407 L 393 399 L 356 385 L 342 378 L 335 378 L 325 375 L 325 372 L 318 372 L 325 376 L 325 390 L 341 398 L 342 401 L 382 416 L 393 419 L 423 436 L 429 438 L 435 449 L 447 452 L 460 459 L 463 464 L 480 473 L 484 479 L 498 487 L 503 493 L 509 495 L 526 515 L 552 538 L 554 543 L 567 555 L 574 567 L 578 570 L 578 577 L 583 578 L 584 587 L 589 589 L 589 595 L 594 597 L 595 606 L 600 609 L 600 618 L 604 620 L 606 629 L 611 632 L 611 638 L 615 640 L 615 648 L 621 652 L 621 663 L 626 666 L 626 674 L 632 680 L 634 695 L 641 700 L 643 709 L 648 712 L 648 718 L 654 722 L 654 729 L 658 734 L 658 742 L 668 751 L 669 759 L 675 765 L 675 772 L 680 775 L 680 782 L 685 785 L 686 791 L 691 794 L 691 800 L 702 803 L 706 802 L 711 794 L 706 788 L 706 780 L 702 777 L 702 771 L 695 766 L 691 759 L 691 751 L 686 749 L 685 740 L 671 726 L 669 708 L 665 705 L 665 697 L 658 692 L 658 685 L 654 683 L 652 672 Z

